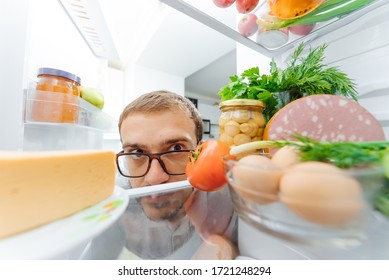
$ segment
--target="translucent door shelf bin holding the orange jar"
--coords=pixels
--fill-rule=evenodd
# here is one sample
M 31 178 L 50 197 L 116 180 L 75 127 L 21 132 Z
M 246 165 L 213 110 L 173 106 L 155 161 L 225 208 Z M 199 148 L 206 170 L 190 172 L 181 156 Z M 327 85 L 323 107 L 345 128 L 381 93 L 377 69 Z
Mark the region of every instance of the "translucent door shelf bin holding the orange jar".
M 24 92 L 23 150 L 100 149 L 117 134 L 117 121 L 77 96 Z

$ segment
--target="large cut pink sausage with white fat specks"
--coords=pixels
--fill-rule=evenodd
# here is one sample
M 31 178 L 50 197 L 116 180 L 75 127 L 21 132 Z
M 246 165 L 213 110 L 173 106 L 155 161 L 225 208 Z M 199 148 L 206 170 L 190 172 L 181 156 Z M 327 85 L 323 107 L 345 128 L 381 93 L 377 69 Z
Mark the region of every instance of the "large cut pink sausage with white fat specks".
M 293 140 L 294 134 L 322 142 L 385 140 L 381 124 L 370 112 L 353 100 L 328 94 L 287 104 L 269 120 L 263 138 Z

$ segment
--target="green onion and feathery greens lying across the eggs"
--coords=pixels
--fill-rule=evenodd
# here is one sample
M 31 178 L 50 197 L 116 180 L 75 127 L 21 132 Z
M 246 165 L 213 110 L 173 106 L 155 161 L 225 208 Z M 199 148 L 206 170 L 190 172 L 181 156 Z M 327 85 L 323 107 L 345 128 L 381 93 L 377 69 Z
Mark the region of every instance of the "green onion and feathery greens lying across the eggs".
M 302 161 L 331 162 L 340 168 L 366 165 L 382 165 L 389 153 L 389 142 L 318 142 L 308 137 L 295 135 L 296 141 L 257 141 L 233 147 L 231 154 L 239 154 L 264 148 L 295 146 Z

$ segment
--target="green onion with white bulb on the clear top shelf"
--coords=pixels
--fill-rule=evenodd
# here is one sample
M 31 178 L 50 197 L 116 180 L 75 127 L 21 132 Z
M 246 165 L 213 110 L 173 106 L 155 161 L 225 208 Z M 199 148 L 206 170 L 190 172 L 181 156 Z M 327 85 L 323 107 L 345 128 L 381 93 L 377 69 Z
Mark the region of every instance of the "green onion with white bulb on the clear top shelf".
M 258 18 L 257 23 L 259 26 L 271 30 L 293 25 L 324 22 L 347 15 L 372 2 L 374 0 L 327 0 L 315 10 L 300 18 L 284 20 L 270 15 L 263 15 Z

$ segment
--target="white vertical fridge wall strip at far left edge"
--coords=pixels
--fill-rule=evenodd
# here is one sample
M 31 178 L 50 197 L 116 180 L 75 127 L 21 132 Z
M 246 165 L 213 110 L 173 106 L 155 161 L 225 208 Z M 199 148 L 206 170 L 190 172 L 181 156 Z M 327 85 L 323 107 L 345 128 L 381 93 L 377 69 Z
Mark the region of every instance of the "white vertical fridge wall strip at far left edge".
M 28 0 L 3 1 L 0 9 L 0 150 L 18 150 L 23 140 L 22 92 Z

